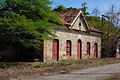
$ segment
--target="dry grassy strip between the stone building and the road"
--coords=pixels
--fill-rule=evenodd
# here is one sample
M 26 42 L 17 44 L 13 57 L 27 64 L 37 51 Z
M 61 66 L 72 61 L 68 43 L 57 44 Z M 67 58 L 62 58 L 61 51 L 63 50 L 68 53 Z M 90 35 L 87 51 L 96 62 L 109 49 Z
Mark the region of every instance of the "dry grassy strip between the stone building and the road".
M 22 80 L 23 78 L 47 76 L 76 69 L 119 63 L 120 59 L 68 60 L 51 63 L 0 63 L 0 80 Z

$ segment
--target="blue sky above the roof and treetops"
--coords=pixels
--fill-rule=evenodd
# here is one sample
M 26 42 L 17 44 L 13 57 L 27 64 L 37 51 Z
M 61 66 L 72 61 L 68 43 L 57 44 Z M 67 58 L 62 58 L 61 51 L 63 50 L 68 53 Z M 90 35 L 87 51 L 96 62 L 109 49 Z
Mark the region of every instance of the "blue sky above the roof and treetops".
M 97 7 L 99 9 L 99 15 L 107 13 L 112 5 L 115 5 L 115 10 L 120 10 L 120 0 L 50 0 L 53 1 L 52 7 L 63 5 L 65 7 L 81 8 L 81 4 L 86 2 L 88 12 L 92 13 L 92 10 Z

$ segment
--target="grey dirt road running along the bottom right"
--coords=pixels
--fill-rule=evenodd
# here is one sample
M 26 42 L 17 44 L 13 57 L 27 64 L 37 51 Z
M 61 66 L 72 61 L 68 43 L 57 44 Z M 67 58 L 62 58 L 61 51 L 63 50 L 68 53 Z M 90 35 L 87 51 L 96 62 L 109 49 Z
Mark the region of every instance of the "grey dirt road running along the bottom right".
M 29 80 L 103 80 L 111 74 L 120 73 L 120 63 L 94 67 L 52 76 L 40 76 Z

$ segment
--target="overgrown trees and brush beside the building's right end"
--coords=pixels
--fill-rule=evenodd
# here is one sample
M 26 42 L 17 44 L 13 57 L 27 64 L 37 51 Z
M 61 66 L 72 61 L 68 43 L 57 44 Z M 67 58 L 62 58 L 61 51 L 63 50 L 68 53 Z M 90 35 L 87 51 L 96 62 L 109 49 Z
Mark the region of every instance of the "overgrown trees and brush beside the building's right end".
M 102 34 L 102 57 L 114 57 L 116 53 L 117 41 L 120 37 L 120 30 L 111 21 L 100 17 L 88 16 L 87 23 L 101 30 Z M 98 22 L 96 22 L 98 21 Z

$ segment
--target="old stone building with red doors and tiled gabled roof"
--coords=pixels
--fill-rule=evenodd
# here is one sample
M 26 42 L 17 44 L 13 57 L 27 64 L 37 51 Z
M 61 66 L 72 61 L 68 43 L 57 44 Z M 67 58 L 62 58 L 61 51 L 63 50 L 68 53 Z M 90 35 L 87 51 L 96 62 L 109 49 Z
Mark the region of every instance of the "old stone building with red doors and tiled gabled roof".
M 59 15 L 66 28 L 53 30 L 54 41 L 44 41 L 43 61 L 101 57 L 102 32 L 87 24 L 82 11 Z

